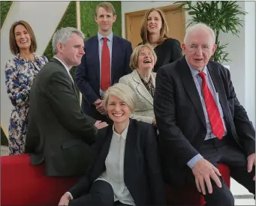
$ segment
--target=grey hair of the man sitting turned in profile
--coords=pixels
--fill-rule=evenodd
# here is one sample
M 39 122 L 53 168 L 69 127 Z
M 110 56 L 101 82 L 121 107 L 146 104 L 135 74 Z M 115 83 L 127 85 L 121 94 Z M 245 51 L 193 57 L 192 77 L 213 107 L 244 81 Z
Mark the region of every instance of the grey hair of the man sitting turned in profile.
M 58 53 L 57 44 L 58 43 L 65 44 L 68 38 L 72 36 L 72 34 L 77 34 L 84 39 L 83 32 L 73 27 L 61 28 L 53 34 L 53 43 L 52 43 L 53 55 L 56 55 Z

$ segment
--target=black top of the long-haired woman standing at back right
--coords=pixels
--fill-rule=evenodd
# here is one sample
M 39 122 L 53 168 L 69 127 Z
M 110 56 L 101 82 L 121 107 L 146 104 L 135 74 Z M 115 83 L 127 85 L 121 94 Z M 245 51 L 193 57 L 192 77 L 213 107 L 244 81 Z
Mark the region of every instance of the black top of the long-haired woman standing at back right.
M 141 44 L 139 43 L 138 45 Z M 155 46 L 154 51 L 158 57 L 153 70 L 154 72 L 158 72 L 159 67 L 170 64 L 182 57 L 182 48 L 179 40 L 173 38 L 166 39 L 163 43 Z

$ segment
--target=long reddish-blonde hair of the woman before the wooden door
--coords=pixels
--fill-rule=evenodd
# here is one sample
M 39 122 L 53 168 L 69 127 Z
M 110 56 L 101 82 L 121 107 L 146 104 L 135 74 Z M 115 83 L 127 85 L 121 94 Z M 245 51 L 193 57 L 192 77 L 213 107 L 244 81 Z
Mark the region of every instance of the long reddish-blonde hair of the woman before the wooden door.
M 159 15 L 161 16 L 161 22 L 162 22 L 162 28 L 160 31 L 160 38 L 157 41 L 158 44 L 163 43 L 164 40 L 166 40 L 168 37 L 168 33 L 169 33 L 169 28 L 167 25 L 167 20 L 165 19 L 165 15 L 164 12 L 158 8 L 151 8 L 149 10 L 146 11 L 144 17 L 143 17 L 143 21 L 141 23 L 141 28 L 140 28 L 140 37 L 142 39 L 143 43 L 150 43 L 149 42 L 149 32 L 148 32 L 148 28 L 147 28 L 147 24 L 148 24 L 148 18 L 149 18 L 149 14 L 152 11 L 157 11 L 159 13 Z

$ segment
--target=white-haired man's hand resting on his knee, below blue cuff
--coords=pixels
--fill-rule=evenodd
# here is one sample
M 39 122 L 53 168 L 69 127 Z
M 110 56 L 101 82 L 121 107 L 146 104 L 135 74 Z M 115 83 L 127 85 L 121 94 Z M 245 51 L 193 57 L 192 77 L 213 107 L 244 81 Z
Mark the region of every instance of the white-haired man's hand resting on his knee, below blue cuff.
M 218 187 L 222 187 L 221 181 L 218 178 L 218 176 L 221 176 L 221 173 L 207 160 L 204 160 L 203 158 L 200 159 L 192 168 L 192 172 L 194 174 L 195 183 L 197 185 L 197 190 L 199 191 L 199 193 L 203 193 L 203 195 L 206 195 L 206 183 L 209 194 L 212 194 L 212 183 L 210 178 L 215 181 L 215 184 Z

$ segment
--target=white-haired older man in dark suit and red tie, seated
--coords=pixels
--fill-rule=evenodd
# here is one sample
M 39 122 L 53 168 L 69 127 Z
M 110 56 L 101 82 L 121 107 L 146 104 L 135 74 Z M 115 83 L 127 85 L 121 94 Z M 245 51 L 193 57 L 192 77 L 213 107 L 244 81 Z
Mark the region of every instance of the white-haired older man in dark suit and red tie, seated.
M 233 205 L 217 166 L 255 194 L 255 130 L 236 97 L 230 72 L 209 61 L 215 34 L 203 24 L 188 28 L 185 56 L 158 70 L 154 98 L 164 179 L 196 184 L 207 205 Z

